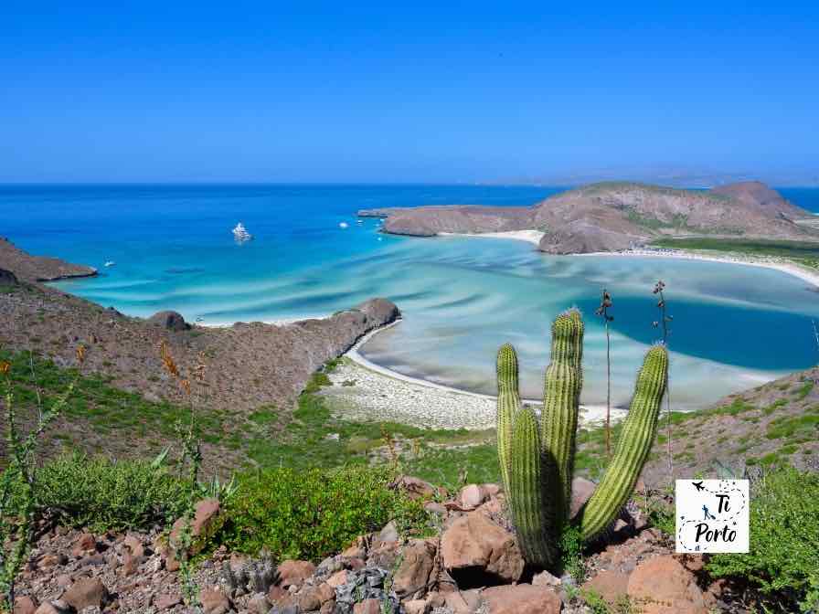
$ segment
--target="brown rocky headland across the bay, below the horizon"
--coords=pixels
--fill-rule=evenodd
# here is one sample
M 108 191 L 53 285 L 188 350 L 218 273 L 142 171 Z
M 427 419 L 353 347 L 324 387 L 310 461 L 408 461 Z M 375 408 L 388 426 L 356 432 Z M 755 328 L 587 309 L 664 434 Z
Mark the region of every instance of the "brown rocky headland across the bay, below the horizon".
M 759 182 L 713 190 L 681 190 L 634 183 L 592 184 L 529 207 L 419 206 L 363 209 L 385 217 L 388 233 L 432 237 L 537 229 L 539 249 L 553 254 L 628 249 L 658 237 L 819 240 L 798 222 L 812 215 Z

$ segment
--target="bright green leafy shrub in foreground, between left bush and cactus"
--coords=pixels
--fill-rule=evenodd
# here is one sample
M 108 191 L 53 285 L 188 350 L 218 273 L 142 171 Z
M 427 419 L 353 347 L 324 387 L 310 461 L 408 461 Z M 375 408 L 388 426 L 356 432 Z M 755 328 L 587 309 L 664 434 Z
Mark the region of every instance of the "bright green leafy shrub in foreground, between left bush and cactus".
M 217 540 L 251 555 L 264 548 L 278 559 L 318 561 L 390 520 L 414 532 L 427 514 L 389 487 L 393 477 L 388 468 L 363 466 L 241 475 L 241 496 L 226 505 L 227 522 Z

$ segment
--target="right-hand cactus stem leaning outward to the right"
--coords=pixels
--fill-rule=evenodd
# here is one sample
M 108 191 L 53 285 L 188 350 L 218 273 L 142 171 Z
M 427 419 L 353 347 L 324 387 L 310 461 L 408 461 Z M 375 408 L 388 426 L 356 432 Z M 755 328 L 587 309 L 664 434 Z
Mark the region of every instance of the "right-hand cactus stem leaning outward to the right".
M 629 415 L 622 426 L 617 450 L 597 489 L 580 512 L 580 535 L 588 541 L 612 523 L 633 492 L 654 443 L 660 403 L 668 380 L 668 352 L 654 345 L 637 375 Z

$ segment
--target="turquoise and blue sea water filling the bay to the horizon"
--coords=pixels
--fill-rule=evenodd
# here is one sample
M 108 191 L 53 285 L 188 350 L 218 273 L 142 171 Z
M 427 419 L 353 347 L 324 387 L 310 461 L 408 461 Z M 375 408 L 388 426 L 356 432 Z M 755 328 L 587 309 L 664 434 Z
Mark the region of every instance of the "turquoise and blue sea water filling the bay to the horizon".
M 472 185 L 0 186 L 0 234 L 36 254 L 101 270 L 58 283 L 104 306 L 182 312 L 204 324 L 322 316 L 373 296 L 396 302 L 399 325 L 362 354 L 410 376 L 494 392 L 497 346 L 516 344 L 522 386 L 539 397 L 548 324 L 586 315 L 583 401 L 601 403 L 604 334 L 594 317 L 613 295 L 613 397 L 624 404 L 647 344 L 658 338 L 654 281 L 674 316 L 675 407 L 814 365 L 819 294 L 775 270 L 678 259 L 549 257 L 510 239 L 399 238 L 358 224 L 356 209 L 431 204 L 530 205 L 556 187 Z M 819 189 L 782 193 L 819 211 Z M 255 236 L 239 245 L 238 221 Z M 347 228 L 341 228 L 345 223 Z M 116 262 L 103 267 L 107 260 Z

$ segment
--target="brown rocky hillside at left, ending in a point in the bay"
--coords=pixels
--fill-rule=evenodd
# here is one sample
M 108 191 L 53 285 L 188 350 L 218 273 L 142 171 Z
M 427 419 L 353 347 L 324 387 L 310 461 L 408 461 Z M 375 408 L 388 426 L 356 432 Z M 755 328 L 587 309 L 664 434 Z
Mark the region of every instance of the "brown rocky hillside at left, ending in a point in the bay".
M 158 348 L 165 342 L 186 376 L 194 366 L 205 365 L 201 378 L 207 395 L 198 404 L 288 411 L 319 366 L 400 317 L 392 302 L 373 299 L 321 320 L 208 328 L 187 324 L 175 312 L 148 320 L 128 317 L 31 281 L 93 270 L 29 256 L 8 242 L 0 244 L 0 271 L 5 271 L 0 275 L 0 349 L 32 349 L 58 365 L 71 365 L 83 344 L 87 372 L 103 374 L 113 386 L 150 401 L 182 398 L 162 367 Z

